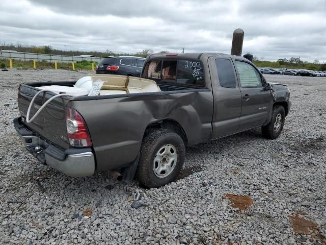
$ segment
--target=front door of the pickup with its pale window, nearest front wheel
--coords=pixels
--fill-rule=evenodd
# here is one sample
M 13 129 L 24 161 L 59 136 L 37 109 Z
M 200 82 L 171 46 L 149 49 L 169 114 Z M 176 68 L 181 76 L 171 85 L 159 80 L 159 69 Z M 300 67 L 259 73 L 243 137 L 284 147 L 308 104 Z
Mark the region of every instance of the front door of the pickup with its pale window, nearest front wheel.
M 256 67 L 243 60 L 235 60 L 235 66 L 242 96 L 239 131 L 243 131 L 264 124 L 272 98 Z

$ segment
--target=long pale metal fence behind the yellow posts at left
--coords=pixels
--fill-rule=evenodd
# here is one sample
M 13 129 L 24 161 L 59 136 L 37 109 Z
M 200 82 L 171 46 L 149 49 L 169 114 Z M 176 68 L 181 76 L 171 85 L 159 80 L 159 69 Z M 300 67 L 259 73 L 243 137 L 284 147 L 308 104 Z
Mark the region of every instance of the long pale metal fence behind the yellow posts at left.
M 94 61 L 96 63 L 101 61 L 99 57 L 78 57 L 78 56 L 67 56 L 67 55 L 44 55 L 34 53 L 22 53 L 22 52 L 4 52 L 0 51 L 0 59 L 15 59 L 15 60 L 46 60 L 48 62 L 72 62 L 72 61 Z

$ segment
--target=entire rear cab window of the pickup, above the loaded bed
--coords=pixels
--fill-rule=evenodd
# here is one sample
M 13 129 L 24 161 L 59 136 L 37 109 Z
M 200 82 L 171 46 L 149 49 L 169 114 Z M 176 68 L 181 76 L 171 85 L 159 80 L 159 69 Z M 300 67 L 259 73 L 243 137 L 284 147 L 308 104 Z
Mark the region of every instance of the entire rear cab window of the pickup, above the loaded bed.
M 145 64 L 141 77 L 183 86 L 203 87 L 205 85 L 204 70 L 199 60 L 152 60 Z

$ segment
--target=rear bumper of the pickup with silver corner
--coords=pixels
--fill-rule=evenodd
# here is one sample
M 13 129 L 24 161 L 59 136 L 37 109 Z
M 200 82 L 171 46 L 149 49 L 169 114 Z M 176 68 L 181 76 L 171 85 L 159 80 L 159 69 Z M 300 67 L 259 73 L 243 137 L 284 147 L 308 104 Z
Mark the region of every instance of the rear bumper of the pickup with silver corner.
M 73 177 L 94 174 L 95 158 L 91 148 L 63 150 L 45 139 L 41 139 L 35 132 L 22 124 L 20 117 L 14 119 L 14 127 L 26 150 L 40 162 Z

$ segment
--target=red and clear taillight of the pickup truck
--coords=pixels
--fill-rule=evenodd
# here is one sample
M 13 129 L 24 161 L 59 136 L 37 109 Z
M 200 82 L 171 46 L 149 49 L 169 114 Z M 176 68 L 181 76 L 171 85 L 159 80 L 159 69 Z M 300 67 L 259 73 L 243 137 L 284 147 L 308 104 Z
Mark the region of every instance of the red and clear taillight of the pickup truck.
M 67 134 L 71 146 L 92 146 L 91 137 L 83 117 L 69 107 L 67 108 Z

